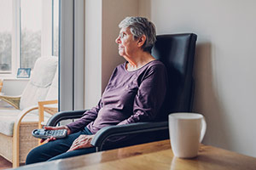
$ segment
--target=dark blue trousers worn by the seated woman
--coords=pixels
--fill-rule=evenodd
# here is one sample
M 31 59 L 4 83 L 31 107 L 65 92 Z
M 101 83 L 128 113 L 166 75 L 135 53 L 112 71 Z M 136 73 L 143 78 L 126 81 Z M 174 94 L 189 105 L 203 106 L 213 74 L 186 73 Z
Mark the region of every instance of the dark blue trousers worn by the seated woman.
M 26 156 L 26 165 L 41 161 L 53 161 L 96 152 L 95 147 L 67 152 L 67 150 L 69 150 L 70 146 L 73 144 L 73 141 L 81 134 L 92 133 L 90 133 L 90 131 L 85 127 L 84 130 L 78 133 L 70 134 L 65 139 L 56 139 L 54 141 L 50 141 L 49 143 L 42 144 L 29 152 L 29 154 Z

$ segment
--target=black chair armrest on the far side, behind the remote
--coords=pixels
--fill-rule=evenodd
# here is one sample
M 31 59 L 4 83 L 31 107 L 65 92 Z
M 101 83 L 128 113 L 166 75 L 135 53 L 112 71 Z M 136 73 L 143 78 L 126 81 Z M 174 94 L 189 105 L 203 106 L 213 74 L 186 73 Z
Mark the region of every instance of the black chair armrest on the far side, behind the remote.
M 46 126 L 55 127 L 59 122 L 67 119 L 78 119 L 83 116 L 84 112 L 87 110 L 81 111 L 61 111 L 56 113 L 54 116 L 51 116 L 46 123 Z

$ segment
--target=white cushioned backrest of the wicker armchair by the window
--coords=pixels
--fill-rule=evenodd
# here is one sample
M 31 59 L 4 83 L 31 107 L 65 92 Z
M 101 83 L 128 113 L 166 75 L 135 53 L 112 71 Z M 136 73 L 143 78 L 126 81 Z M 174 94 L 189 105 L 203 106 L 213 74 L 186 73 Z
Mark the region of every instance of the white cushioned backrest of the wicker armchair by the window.
M 58 58 L 55 56 L 44 56 L 37 59 L 32 77 L 21 94 L 20 110 L 32 105 L 38 105 L 39 100 L 46 98 L 55 77 L 57 65 Z

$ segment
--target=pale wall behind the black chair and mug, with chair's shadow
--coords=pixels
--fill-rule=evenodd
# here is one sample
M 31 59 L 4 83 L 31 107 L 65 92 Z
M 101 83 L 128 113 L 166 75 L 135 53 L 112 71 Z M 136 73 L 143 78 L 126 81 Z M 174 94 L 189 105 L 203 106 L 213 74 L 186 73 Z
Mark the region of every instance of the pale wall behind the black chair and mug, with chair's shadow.
M 198 35 L 194 111 L 207 119 L 203 143 L 256 156 L 256 1 L 142 2 L 158 34 Z

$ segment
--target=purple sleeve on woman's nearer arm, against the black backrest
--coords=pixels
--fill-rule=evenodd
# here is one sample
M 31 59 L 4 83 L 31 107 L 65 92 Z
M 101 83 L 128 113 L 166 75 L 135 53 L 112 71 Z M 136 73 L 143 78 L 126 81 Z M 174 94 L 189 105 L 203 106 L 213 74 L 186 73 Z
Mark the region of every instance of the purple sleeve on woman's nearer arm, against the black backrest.
M 166 97 L 166 67 L 154 65 L 144 75 L 134 99 L 133 114 L 119 125 L 154 120 Z

